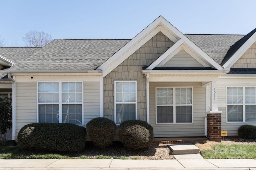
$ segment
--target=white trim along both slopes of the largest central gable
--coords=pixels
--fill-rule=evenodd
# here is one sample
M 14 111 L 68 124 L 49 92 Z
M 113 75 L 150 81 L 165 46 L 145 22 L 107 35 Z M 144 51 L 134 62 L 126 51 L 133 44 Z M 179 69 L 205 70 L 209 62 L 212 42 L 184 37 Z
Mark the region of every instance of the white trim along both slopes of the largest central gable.
M 172 24 L 166 21 L 162 16 L 159 16 L 150 25 L 138 33 L 138 35 L 136 35 L 131 41 L 124 45 L 124 47 L 118 50 L 114 55 L 112 55 L 112 57 L 100 65 L 96 70 L 102 70 L 103 76 L 106 76 L 160 31 L 174 43 L 176 43 L 178 39 L 181 38 L 199 55 L 201 55 L 210 64 L 212 64 L 212 66 L 218 70 L 223 70 L 222 66 L 216 63 L 216 61 L 204 53 L 204 51 L 202 51 L 198 46 L 196 46 L 192 41 L 190 41 L 190 39 L 188 39 L 183 33 L 181 33 Z

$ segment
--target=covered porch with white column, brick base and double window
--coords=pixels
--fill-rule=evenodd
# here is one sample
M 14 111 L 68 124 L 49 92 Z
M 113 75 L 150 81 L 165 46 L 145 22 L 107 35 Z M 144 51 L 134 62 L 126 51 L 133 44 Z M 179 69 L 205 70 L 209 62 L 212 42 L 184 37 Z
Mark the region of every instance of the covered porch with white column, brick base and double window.
M 155 138 L 206 136 L 221 141 L 216 84 L 226 74 L 224 70 L 142 72 L 146 75 L 147 121 L 154 127 Z

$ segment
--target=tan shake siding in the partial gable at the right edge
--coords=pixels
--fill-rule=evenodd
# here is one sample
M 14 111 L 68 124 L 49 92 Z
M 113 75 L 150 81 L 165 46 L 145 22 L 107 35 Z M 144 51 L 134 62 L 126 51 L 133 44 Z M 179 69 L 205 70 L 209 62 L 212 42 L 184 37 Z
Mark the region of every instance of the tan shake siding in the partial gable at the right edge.
M 256 43 L 231 68 L 256 68 Z

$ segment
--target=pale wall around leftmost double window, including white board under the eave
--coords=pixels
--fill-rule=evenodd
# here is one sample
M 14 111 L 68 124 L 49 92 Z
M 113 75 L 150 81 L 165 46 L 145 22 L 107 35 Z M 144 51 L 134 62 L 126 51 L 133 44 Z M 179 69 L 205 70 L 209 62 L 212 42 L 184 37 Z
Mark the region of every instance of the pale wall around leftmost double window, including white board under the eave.
M 83 81 L 84 127 L 100 116 L 100 76 L 16 76 L 16 139 L 20 129 L 37 121 L 37 81 Z

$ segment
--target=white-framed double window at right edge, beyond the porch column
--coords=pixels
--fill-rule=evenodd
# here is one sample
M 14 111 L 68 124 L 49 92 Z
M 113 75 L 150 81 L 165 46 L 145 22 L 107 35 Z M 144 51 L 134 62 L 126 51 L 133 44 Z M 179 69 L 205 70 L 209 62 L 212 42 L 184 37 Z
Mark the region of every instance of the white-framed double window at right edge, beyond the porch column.
M 227 87 L 227 122 L 256 121 L 256 87 Z

